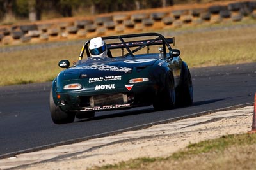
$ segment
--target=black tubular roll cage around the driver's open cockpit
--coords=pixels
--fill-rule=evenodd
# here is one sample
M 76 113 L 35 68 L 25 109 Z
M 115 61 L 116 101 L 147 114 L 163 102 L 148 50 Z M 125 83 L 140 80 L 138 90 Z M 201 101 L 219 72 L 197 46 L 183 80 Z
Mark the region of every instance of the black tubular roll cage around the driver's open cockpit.
M 142 38 L 142 37 L 148 37 L 148 36 L 156 36 L 154 39 L 143 39 L 139 41 L 124 41 L 124 38 Z M 120 42 L 118 43 L 108 43 L 108 57 L 112 57 L 110 50 L 111 49 L 121 49 L 122 50 L 122 57 L 127 57 L 128 55 L 131 55 L 131 57 L 134 57 L 134 53 L 138 52 L 142 48 L 145 48 L 147 46 L 147 49 L 149 50 L 149 46 L 152 45 L 163 45 L 163 57 L 166 58 L 166 46 L 169 51 L 172 50 L 170 44 L 175 45 L 175 38 L 164 38 L 163 35 L 158 33 L 142 33 L 142 34 L 127 34 L 127 35 L 120 35 L 120 36 L 106 36 L 102 37 L 102 40 L 106 39 L 119 39 Z M 86 52 L 86 55 L 90 57 L 90 52 L 88 45 L 90 43 L 90 40 L 86 41 L 81 49 L 80 55 L 79 55 L 79 64 L 81 64 L 81 60 L 83 59 L 84 51 Z M 131 50 L 133 47 L 134 50 Z M 124 49 L 127 50 L 128 53 L 124 54 Z

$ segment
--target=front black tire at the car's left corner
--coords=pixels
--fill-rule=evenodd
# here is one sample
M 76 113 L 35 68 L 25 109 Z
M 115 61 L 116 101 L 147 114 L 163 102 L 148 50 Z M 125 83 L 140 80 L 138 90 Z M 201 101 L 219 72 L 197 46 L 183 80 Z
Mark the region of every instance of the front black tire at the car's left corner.
M 67 124 L 74 122 L 75 113 L 62 111 L 59 106 L 56 106 L 52 97 L 52 88 L 50 91 L 50 112 L 52 117 L 52 122 L 55 124 Z

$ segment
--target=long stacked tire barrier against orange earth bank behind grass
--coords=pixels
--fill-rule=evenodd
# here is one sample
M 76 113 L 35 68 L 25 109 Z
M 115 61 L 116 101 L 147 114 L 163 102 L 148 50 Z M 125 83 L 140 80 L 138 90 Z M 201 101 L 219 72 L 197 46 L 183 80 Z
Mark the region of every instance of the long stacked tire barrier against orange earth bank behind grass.
M 0 27 L 0 45 L 90 38 L 186 25 L 256 20 L 256 1 L 227 1 L 191 6 L 109 13 L 80 19 L 60 19 Z

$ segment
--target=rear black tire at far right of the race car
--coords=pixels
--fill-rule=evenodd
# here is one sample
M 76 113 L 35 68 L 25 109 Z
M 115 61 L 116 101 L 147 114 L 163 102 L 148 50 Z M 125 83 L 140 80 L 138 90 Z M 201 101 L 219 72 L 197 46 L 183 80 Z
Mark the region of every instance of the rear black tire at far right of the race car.
M 193 103 L 193 85 L 188 66 L 182 62 L 181 85 L 177 87 L 177 106 L 189 106 Z

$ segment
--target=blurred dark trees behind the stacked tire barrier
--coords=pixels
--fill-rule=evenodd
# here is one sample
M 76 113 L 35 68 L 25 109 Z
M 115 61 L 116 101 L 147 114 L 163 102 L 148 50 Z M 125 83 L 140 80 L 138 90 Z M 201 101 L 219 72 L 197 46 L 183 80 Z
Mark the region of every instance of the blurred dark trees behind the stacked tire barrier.
M 212 1 L 212 0 L 204 0 Z M 217 0 L 215 0 L 217 1 Z M 88 15 L 131 11 L 147 8 L 161 8 L 173 4 L 198 3 L 200 0 L 0 0 L 0 20 L 41 20 L 42 14 L 53 13 L 51 17 L 72 17 L 77 11 Z M 91 10 L 90 10 L 91 9 Z

